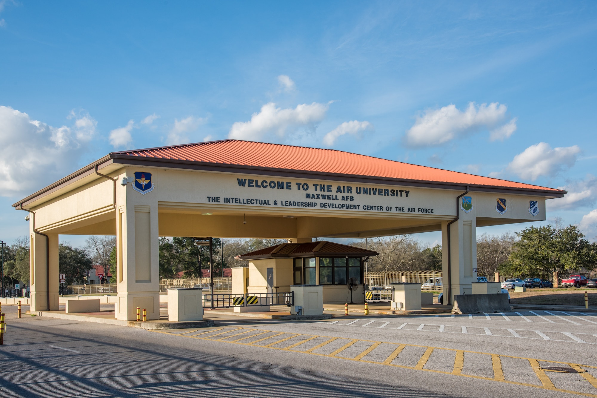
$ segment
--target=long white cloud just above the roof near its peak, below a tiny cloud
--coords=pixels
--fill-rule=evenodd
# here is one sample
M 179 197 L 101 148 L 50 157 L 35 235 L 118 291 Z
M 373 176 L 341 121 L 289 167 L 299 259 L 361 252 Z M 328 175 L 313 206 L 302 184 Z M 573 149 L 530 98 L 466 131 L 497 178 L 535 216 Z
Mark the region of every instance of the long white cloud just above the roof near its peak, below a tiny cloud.
M 284 137 L 288 130 L 298 127 L 313 127 L 325 117 L 329 104 L 303 103 L 296 108 L 276 108 L 273 102 L 261 106 L 259 113 L 251 115 L 247 122 L 236 122 L 228 136 L 239 140 L 259 140 L 268 133 Z

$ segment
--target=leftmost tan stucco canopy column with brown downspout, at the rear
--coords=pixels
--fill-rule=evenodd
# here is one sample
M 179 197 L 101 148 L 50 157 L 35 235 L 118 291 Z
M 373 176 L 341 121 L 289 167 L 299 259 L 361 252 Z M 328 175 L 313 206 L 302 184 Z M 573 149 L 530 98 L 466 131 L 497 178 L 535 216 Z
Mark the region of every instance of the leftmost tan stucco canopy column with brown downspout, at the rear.
M 30 222 L 30 261 L 29 261 L 29 289 L 31 292 L 31 311 L 57 311 L 58 302 L 58 234 L 47 234 L 50 240 L 49 254 L 50 267 L 46 251 L 47 238 L 33 232 L 33 223 Z M 50 302 L 48 306 L 48 284 L 50 287 Z

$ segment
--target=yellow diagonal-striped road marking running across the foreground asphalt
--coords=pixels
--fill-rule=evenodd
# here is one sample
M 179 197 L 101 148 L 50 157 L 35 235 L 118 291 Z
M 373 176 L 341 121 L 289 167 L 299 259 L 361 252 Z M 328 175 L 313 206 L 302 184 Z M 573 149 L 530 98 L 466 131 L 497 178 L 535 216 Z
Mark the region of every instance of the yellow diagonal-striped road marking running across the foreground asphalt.
M 220 338 L 218 338 L 218 339 L 211 338 L 211 336 L 220 335 L 220 333 L 214 333 L 214 332 L 217 332 L 222 329 L 227 329 L 227 332 L 229 332 L 229 333 L 239 330 L 239 329 L 235 329 L 233 327 L 225 327 L 225 328 L 221 328 L 221 329 L 211 329 L 208 332 L 205 332 L 205 334 L 202 335 L 201 337 L 195 337 L 195 338 L 199 338 L 199 339 L 207 340 L 207 341 L 220 342 L 222 344 L 228 343 L 228 344 L 239 344 L 239 345 L 252 345 L 253 347 L 266 347 L 271 350 L 291 351 L 291 352 L 297 353 L 297 354 L 333 357 L 333 358 L 336 358 L 337 360 L 352 360 L 352 361 L 358 361 L 358 362 L 364 362 L 364 363 L 372 363 L 374 365 L 380 365 L 380 366 L 394 366 L 396 368 L 414 369 L 417 371 L 424 371 L 424 372 L 443 373 L 446 375 L 454 375 L 454 376 L 458 376 L 458 377 L 468 377 L 468 378 L 484 379 L 484 380 L 488 380 L 488 381 L 505 382 L 508 384 L 541 388 L 543 390 L 559 391 L 559 392 L 564 392 L 564 393 L 577 394 L 577 395 L 581 395 L 581 396 L 597 397 L 597 378 L 595 378 L 595 376 L 592 376 L 589 372 L 578 373 L 579 375 L 581 375 L 584 378 L 584 381 L 586 381 L 586 384 L 571 384 L 573 386 L 578 385 L 578 388 L 583 391 L 564 390 L 562 388 L 555 387 L 555 385 L 553 384 L 553 381 L 550 379 L 550 372 L 545 372 L 541 368 L 540 362 L 541 363 L 549 363 L 549 366 L 552 366 L 552 365 L 569 366 L 570 368 L 576 369 L 577 371 L 586 371 L 587 369 L 597 369 L 597 366 L 588 366 L 588 365 L 580 365 L 578 363 L 557 362 L 557 361 L 552 361 L 552 360 L 533 359 L 533 358 L 525 358 L 525 357 L 503 356 L 503 355 L 499 355 L 499 354 L 479 353 L 476 351 L 454 350 L 453 348 L 429 347 L 429 346 L 424 346 L 424 345 L 400 344 L 400 343 L 396 343 L 396 342 L 371 341 L 371 340 L 363 340 L 363 339 L 338 338 L 338 337 L 319 336 L 319 335 L 297 335 L 296 333 L 290 333 L 290 332 L 275 332 L 273 330 L 252 329 L 252 328 L 241 328 L 241 329 L 248 329 L 248 332 L 256 332 L 256 334 L 254 334 L 254 336 L 263 335 L 266 333 L 274 333 L 274 335 L 272 335 L 266 339 L 276 339 L 276 338 L 278 338 L 278 339 L 276 339 L 274 342 L 272 342 L 270 344 L 267 344 L 266 346 L 263 346 L 263 345 L 254 344 L 254 342 L 235 342 L 235 341 L 221 340 Z M 513 332 L 512 329 L 508 329 L 508 330 Z M 161 331 L 161 330 L 150 330 L 150 332 L 163 333 L 163 334 L 167 334 L 167 335 L 178 336 L 180 338 L 192 338 L 192 336 L 186 335 L 186 333 L 179 334 L 176 332 L 165 332 L 165 331 Z M 210 335 L 210 333 L 211 333 L 211 335 Z M 290 335 L 290 337 L 285 336 L 285 335 Z M 296 337 L 302 337 L 302 339 L 288 347 L 281 347 L 280 345 L 277 344 L 277 342 L 288 341 L 288 340 L 290 340 L 292 338 L 296 338 Z M 316 339 L 316 338 L 324 339 L 324 341 L 318 345 L 315 345 L 315 347 L 309 348 L 308 350 L 300 350 L 301 345 L 303 345 L 306 342 L 309 342 L 313 339 Z M 342 342 L 344 342 L 344 344 L 340 348 L 337 348 L 332 353 L 323 354 L 323 353 L 315 352 L 319 348 L 322 348 L 325 345 L 330 344 L 331 342 L 336 341 L 336 340 L 342 341 Z M 361 344 L 356 344 L 357 342 L 359 342 Z M 389 356 L 387 356 L 386 359 L 384 359 L 384 360 L 379 360 L 379 361 L 366 360 L 365 357 L 367 357 L 368 354 L 373 353 L 373 351 L 375 351 L 376 348 L 378 348 L 381 344 L 384 344 L 384 346 L 390 345 L 390 347 L 393 346 L 396 348 L 394 348 L 392 353 Z M 407 347 L 407 345 L 410 347 L 424 348 L 424 353 L 420 354 L 420 357 L 419 357 L 416 365 L 405 366 L 405 365 L 398 365 L 398 363 L 393 363 L 393 361 L 396 359 L 396 357 L 399 356 L 399 354 L 404 350 L 405 347 Z M 61 347 L 57 347 L 57 346 L 50 346 L 50 347 L 60 348 L 61 350 L 73 351 L 73 350 L 70 350 L 69 348 L 61 348 Z M 361 351 L 361 353 L 358 353 L 356 355 L 352 354 L 353 357 L 338 357 L 339 353 L 341 353 L 342 351 L 346 350 L 346 348 L 349 348 L 349 347 L 359 347 L 362 349 L 362 351 Z M 294 348 L 297 348 L 297 349 L 295 350 Z M 429 368 L 425 368 L 427 363 L 432 363 L 432 365 L 433 365 L 434 359 L 432 357 L 432 353 L 436 350 L 451 351 L 454 353 L 454 365 L 453 365 L 453 369 L 451 371 L 437 371 L 437 370 L 433 369 L 434 368 L 433 366 L 430 366 Z M 411 352 L 411 351 L 409 351 L 409 352 Z M 476 361 L 478 358 L 478 357 L 474 357 L 474 356 L 473 357 L 465 356 L 464 353 L 481 354 L 481 355 L 490 356 L 493 373 L 494 373 L 493 377 L 464 374 L 463 368 L 464 368 L 465 362 Z M 466 359 L 466 358 L 469 358 L 469 359 Z M 501 360 L 502 358 L 525 360 L 525 362 L 522 362 L 522 363 L 516 362 L 518 365 L 516 365 L 517 368 L 513 369 L 513 371 L 521 371 L 520 366 L 522 366 L 523 368 L 525 366 L 527 366 L 528 369 L 530 369 L 530 370 L 532 369 L 533 372 L 537 375 L 537 378 L 541 382 L 541 385 L 506 380 L 504 378 L 504 369 L 503 369 L 504 362 Z M 435 360 L 439 360 L 439 357 L 436 357 Z M 507 361 L 505 363 L 511 364 L 513 362 Z M 528 365 L 525 365 L 525 363 L 527 363 Z M 508 366 L 512 366 L 512 365 L 508 365 Z M 543 365 L 543 366 L 546 366 L 546 365 Z M 505 370 L 508 371 L 509 369 L 505 369 Z M 512 370 L 510 370 L 510 372 L 512 372 Z M 552 374 L 552 376 L 554 376 L 556 373 L 551 373 L 551 374 Z M 555 376 L 555 377 L 557 377 L 557 376 Z M 593 391 L 593 393 L 587 393 L 585 391 L 586 388 L 589 387 L 589 385 L 590 385 L 590 387 L 595 388 L 595 391 Z

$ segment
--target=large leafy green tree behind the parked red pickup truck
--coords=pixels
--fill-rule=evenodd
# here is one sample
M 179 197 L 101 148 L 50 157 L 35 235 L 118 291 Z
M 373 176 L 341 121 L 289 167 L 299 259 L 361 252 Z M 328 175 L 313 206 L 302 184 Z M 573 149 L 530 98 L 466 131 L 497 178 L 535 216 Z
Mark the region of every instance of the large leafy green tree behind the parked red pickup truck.
M 500 270 L 509 275 L 526 277 L 537 273 L 553 275 L 558 286 L 561 273 L 578 268 L 595 268 L 597 246 L 584 239 L 576 225 L 530 226 L 516 232 L 519 240 L 513 244 L 508 261 Z

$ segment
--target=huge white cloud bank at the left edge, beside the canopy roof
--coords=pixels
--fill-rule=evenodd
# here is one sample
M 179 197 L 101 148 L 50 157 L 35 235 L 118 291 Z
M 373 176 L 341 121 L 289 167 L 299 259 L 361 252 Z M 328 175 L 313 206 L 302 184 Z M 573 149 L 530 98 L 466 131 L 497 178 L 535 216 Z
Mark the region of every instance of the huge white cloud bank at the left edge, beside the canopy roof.
M 0 194 L 32 192 L 78 166 L 97 122 L 72 114 L 72 127 L 52 127 L 0 106 Z M 93 127 L 93 128 L 92 128 Z

